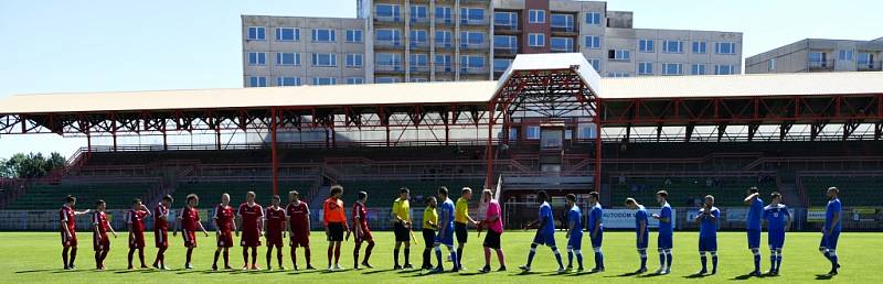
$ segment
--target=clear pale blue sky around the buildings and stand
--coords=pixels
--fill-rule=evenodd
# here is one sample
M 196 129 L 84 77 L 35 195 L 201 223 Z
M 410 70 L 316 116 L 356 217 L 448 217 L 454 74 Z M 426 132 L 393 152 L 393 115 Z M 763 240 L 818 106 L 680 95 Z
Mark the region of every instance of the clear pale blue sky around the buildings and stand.
M 745 56 L 806 37 L 883 36 L 883 1 L 610 0 L 636 28 L 736 31 Z M 241 14 L 355 17 L 355 0 L 2 0 L 0 98 L 242 86 Z M 0 136 L 0 157 L 85 141 Z

